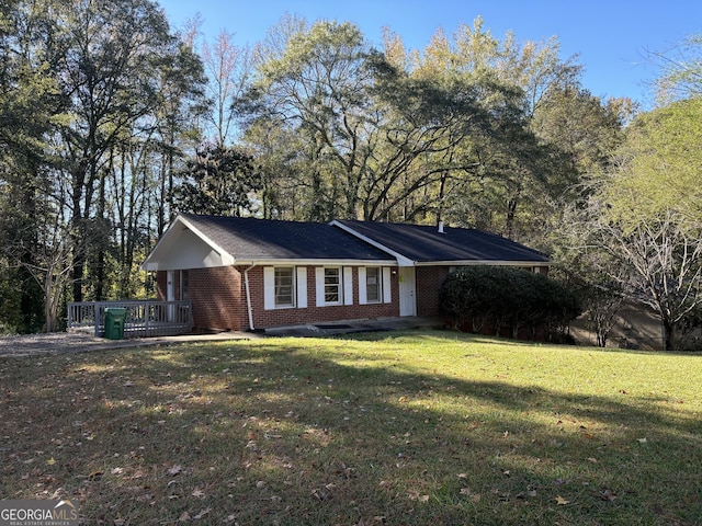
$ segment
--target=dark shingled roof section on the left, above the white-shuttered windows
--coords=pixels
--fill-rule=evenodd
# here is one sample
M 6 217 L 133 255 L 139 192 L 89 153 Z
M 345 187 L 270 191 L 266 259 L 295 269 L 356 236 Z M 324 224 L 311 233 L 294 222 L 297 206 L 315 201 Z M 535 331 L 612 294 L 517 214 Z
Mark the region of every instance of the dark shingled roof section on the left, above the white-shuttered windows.
M 237 260 L 395 259 L 324 222 L 279 221 L 249 217 L 181 214 L 200 232 Z

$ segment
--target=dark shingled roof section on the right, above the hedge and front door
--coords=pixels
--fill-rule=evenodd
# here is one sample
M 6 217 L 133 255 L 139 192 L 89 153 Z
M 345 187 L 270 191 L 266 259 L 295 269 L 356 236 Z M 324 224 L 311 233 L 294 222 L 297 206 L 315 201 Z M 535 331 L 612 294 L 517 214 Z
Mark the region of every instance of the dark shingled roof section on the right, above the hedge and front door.
M 437 227 L 367 221 L 337 221 L 417 263 L 484 261 L 537 262 L 548 258 L 537 250 L 500 236 L 472 228 Z

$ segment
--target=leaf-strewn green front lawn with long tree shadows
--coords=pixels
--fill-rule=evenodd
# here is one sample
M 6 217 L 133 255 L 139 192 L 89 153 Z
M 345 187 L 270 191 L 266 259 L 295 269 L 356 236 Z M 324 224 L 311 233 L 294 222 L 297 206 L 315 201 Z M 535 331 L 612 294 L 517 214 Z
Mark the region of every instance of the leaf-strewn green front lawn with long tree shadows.
M 0 499 L 87 525 L 702 524 L 702 355 L 453 332 L 0 361 Z

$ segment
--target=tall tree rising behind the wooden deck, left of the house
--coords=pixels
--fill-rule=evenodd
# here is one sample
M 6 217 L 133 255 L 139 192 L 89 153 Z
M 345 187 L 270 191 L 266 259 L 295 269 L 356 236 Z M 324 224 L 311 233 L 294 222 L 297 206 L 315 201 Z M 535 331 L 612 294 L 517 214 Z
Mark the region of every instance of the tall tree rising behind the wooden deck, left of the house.
M 57 33 L 49 50 L 52 73 L 72 116 L 59 126 L 55 153 L 61 159 L 58 174 L 66 178 L 69 196 L 72 297 L 80 301 L 91 258 L 88 248 L 98 252 L 97 265 L 88 271 L 102 272 L 106 240 L 104 230 L 97 227 L 105 219 L 102 198 L 110 152 L 152 128 L 167 103 L 161 91 L 163 71 L 182 65 L 183 52 L 162 11 L 148 0 L 59 3 L 53 15 Z M 195 75 L 183 77 L 193 88 L 197 85 Z M 102 296 L 102 281 L 95 276 L 97 296 Z

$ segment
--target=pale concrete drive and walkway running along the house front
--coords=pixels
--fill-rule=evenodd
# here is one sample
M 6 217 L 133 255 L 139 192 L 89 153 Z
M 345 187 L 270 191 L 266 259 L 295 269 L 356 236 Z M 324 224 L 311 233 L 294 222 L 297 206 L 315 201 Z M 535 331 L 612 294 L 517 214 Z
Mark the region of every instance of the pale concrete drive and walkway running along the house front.
M 41 354 L 87 353 L 113 348 L 134 348 L 148 345 L 170 345 L 188 342 L 216 342 L 251 340 L 267 336 L 328 336 L 359 332 L 397 331 L 420 328 L 439 328 L 441 321 L 433 318 L 384 318 L 378 320 L 351 320 L 333 323 L 315 323 L 279 327 L 261 332 L 219 332 L 215 334 L 183 334 L 180 336 L 135 338 L 106 340 L 87 333 L 55 332 L 0 338 L 0 357 L 33 356 Z

